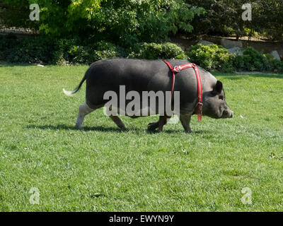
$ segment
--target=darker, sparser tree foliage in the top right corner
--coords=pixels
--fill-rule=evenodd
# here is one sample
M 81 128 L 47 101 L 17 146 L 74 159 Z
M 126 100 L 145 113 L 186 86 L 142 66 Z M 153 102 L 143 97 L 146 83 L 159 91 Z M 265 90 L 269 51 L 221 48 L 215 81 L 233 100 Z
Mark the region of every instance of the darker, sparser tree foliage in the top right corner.
M 188 4 L 205 9 L 206 14 L 192 20 L 195 34 L 235 34 L 237 39 L 254 32 L 266 33 L 273 40 L 283 40 L 283 4 L 277 0 L 256 0 L 252 6 L 252 20 L 242 19 L 246 0 L 187 0 Z M 249 31 L 247 33 L 247 30 Z

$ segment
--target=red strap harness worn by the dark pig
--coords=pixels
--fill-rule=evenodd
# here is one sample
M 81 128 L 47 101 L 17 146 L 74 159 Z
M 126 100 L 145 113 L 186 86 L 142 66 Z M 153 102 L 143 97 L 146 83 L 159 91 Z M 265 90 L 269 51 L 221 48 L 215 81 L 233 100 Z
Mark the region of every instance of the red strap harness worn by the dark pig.
M 171 69 L 173 77 L 171 82 L 171 96 L 173 95 L 174 83 L 175 83 L 175 73 L 178 73 L 184 69 L 194 68 L 195 76 L 197 77 L 197 119 L 202 121 L 202 81 L 200 79 L 200 72 L 195 64 L 183 64 L 180 66 L 171 66 L 168 61 L 164 61 L 168 67 Z

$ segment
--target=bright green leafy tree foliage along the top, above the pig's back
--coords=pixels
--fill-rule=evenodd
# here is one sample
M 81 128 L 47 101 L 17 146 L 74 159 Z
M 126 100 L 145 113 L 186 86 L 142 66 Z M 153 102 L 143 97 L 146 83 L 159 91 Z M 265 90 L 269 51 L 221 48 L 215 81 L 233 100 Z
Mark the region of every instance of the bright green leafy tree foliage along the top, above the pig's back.
M 178 30 L 192 32 L 190 21 L 202 15 L 203 8 L 184 0 L 4 0 L 6 6 L 40 6 L 40 21 L 33 27 L 58 37 L 71 35 L 108 39 L 123 45 L 168 40 Z M 22 18 L 28 18 L 25 13 Z M 25 25 L 25 23 L 21 23 Z

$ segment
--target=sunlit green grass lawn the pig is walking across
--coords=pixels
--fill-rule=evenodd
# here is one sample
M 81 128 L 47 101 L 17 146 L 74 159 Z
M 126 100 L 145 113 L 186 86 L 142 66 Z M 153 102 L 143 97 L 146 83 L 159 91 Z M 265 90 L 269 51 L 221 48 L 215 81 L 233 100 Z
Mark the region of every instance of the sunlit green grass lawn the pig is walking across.
M 0 65 L 1 211 L 283 210 L 283 75 L 215 73 L 234 117 L 194 116 L 191 134 L 180 122 L 147 132 L 157 117 L 122 117 L 120 131 L 103 109 L 77 131 L 85 85 L 62 88 L 86 69 Z

